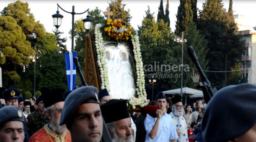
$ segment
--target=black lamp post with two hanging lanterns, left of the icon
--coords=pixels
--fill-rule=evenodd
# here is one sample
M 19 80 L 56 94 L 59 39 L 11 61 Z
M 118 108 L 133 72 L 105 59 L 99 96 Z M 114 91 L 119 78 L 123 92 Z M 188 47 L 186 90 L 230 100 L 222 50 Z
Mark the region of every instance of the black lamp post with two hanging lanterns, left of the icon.
M 53 18 L 53 24 L 54 24 L 54 26 L 55 26 L 56 28 L 59 28 L 60 25 L 61 25 L 61 23 L 62 23 L 62 18 L 63 18 L 64 16 L 59 13 L 59 7 L 60 7 L 60 5 L 59 5 L 59 4 L 57 4 L 57 5 L 58 5 L 57 11 L 56 11 L 57 13 L 56 13 L 56 14 L 53 14 L 53 15 L 52 15 L 52 18 Z M 74 25 L 74 22 L 75 22 L 74 17 L 75 17 L 75 14 L 83 14 L 83 13 L 85 13 L 85 12 L 89 12 L 89 8 L 88 8 L 86 11 L 82 12 L 82 13 L 76 13 L 76 12 L 75 12 L 75 6 L 74 6 L 74 5 L 72 6 L 72 12 L 65 11 L 65 10 L 64 10 L 63 8 L 61 8 L 61 7 L 60 7 L 60 9 L 62 9 L 64 12 L 67 12 L 67 13 L 72 14 L 72 32 L 71 32 L 71 35 L 72 35 L 72 46 L 71 46 L 71 51 L 73 51 L 73 50 L 74 50 L 74 30 L 75 30 L 75 28 L 74 28 L 74 26 L 75 26 L 75 25 Z M 91 29 L 91 25 L 93 25 L 93 19 L 90 18 L 89 13 L 88 13 L 88 15 L 87 15 L 87 18 L 86 18 L 86 19 L 83 19 L 83 25 L 84 25 L 84 29 L 85 29 L 87 32 L 89 32 L 90 29 Z

